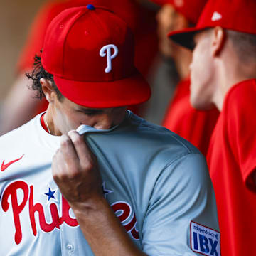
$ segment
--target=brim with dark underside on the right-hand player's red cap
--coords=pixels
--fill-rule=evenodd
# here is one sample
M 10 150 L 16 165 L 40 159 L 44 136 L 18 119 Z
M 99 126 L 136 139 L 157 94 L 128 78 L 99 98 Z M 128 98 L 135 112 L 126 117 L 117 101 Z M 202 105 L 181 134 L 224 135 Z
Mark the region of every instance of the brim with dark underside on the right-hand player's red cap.
M 203 28 L 185 28 L 181 31 L 171 31 L 168 34 L 168 37 L 173 40 L 175 43 L 188 48 L 189 50 L 193 50 L 195 48 L 195 43 L 193 37 L 199 31 L 202 31 Z

